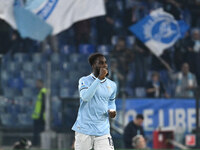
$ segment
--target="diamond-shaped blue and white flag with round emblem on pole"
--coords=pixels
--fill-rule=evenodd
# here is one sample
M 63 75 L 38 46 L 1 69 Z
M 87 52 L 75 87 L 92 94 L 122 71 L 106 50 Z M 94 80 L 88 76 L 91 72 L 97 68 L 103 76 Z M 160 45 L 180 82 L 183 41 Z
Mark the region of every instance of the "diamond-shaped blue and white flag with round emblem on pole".
M 174 45 L 179 38 L 184 37 L 188 29 L 189 26 L 183 20 L 175 20 L 163 9 L 152 11 L 150 15 L 130 27 L 131 32 L 157 56 Z

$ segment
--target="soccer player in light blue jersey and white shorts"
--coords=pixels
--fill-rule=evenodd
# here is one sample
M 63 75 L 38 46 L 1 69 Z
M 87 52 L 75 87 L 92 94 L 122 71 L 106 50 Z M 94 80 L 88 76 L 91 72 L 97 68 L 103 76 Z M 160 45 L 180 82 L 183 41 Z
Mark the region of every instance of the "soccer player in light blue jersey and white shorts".
M 75 150 L 114 150 L 109 117 L 116 116 L 116 84 L 106 78 L 108 65 L 104 55 L 91 54 L 92 73 L 79 80 L 80 107 L 72 130 Z

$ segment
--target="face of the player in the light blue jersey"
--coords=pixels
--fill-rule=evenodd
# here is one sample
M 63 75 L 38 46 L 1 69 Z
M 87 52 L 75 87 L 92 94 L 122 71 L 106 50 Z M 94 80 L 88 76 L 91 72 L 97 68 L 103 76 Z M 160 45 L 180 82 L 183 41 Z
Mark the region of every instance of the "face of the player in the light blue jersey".
M 105 57 L 98 57 L 97 60 L 96 60 L 96 63 L 94 65 L 94 69 L 95 69 L 95 72 L 97 72 L 97 75 L 99 75 L 100 68 L 105 68 L 105 69 L 108 70 L 108 65 L 107 65 Z

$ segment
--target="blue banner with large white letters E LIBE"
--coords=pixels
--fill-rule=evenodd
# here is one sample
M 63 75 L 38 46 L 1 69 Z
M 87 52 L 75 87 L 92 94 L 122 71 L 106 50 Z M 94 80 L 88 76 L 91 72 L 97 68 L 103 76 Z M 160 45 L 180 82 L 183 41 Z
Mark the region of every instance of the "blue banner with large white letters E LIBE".
M 184 135 L 190 133 L 196 125 L 194 99 L 126 99 L 125 113 L 122 113 L 123 101 L 116 100 L 117 122 L 126 125 L 138 113 L 144 115 L 143 127 L 149 144 L 152 145 L 152 133 L 159 127 L 170 128 L 175 131 L 175 138 L 179 136 L 183 142 Z M 181 132 L 179 135 L 176 132 Z

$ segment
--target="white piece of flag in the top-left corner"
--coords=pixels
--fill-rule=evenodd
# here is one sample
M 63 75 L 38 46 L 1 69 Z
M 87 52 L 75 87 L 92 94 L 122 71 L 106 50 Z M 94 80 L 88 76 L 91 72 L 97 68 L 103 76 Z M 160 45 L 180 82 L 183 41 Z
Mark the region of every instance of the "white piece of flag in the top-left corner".
M 13 13 L 14 0 L 0 0 L 0 18 L 6 21 L 13 29 L 17 29 Z

